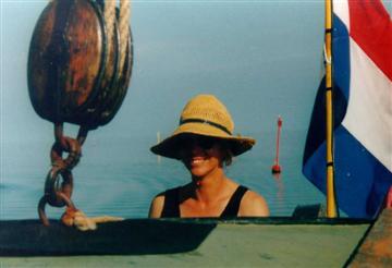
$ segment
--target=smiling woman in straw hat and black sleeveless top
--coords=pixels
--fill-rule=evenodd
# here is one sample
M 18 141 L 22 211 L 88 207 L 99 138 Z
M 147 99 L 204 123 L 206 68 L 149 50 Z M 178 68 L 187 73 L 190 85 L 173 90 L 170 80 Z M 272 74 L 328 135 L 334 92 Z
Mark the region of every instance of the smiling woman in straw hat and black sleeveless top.
M 157 195 L 150 218 L 269 216 L 266 200 L 224 174 L 233 156 L 249 150 L 255 139 L 233 136 L 226 108 L 212 95 L 199 95 L 184 107 L 174 133 L 151 151 L 181 160 L 191 183 Z

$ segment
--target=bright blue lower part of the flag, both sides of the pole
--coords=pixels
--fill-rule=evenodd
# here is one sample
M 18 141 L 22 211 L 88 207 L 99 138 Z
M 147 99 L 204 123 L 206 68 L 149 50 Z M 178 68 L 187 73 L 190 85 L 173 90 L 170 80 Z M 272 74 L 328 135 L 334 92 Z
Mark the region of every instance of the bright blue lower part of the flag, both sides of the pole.
M 339 126 L 334 135 L 339 207 L 350 217 L 372 218 L 388 192 L 391 173 L 344 126 Z M 326 143 L 308 158 L 303 172 L 326 193 Z

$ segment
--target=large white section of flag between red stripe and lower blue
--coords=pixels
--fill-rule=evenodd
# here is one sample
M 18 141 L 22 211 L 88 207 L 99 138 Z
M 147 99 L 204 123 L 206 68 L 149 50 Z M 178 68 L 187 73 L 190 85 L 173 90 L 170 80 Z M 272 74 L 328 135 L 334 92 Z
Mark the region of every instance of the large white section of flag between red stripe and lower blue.
M 343 125 L 392 172 L 392 82 L 351 38 L 348 107 Z

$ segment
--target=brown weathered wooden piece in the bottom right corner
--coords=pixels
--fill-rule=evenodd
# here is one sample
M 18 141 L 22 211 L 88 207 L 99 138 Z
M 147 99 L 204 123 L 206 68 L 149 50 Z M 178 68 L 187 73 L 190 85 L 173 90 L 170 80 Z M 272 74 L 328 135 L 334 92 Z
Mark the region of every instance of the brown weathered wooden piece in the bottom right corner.
M 350 267 L 392 267 L 392 208 L 381 212 Z

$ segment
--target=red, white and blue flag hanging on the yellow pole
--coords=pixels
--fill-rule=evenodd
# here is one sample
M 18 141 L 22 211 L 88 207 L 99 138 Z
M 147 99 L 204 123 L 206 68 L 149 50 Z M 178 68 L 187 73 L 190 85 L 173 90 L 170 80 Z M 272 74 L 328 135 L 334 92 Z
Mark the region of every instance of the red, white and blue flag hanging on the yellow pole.
M 334 179 L 350 217 L 372 218 L 392 185 L 392 21 L 381 0 L 333 1 Z M 324 88 L 303 172 L 326 193 Z

